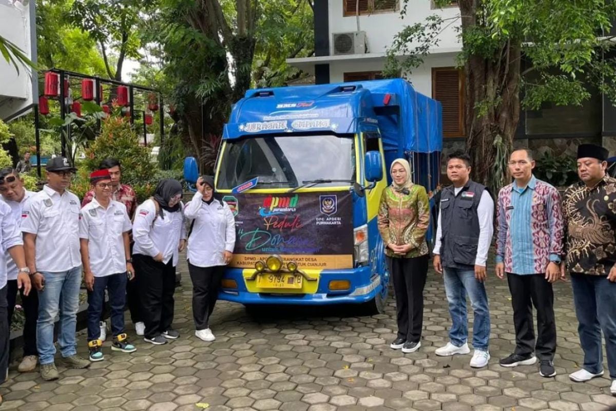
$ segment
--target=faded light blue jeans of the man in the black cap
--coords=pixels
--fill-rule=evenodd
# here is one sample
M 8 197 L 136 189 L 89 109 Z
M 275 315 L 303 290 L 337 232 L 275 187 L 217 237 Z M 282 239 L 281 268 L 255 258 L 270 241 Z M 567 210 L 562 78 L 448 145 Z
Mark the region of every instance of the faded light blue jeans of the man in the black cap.
M 39 318 L 36 322 L 36 346 L 41 365 L 54 362 L 54 323 L 60 314 L 58 345 L 62 357 L 77 353 L 75 327 L 79 309 L 81 266 L 62 272 L 41 272 L 45 279 L 39 291 Z

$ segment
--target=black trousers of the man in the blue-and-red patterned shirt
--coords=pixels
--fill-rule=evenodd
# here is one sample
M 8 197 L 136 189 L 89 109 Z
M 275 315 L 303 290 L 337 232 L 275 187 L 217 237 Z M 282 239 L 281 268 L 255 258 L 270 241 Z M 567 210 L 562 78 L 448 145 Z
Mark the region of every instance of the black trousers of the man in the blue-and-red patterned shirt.
M 556 321 L 554 293 L 545 274 L 507 274 L 513 324 L 516 328 L 516 354 L 529 356 L 533 352 L 539 360 L 551 360 L 556 352 Z M 537 310 L 537 341 L 533 327 L 533 305 Z

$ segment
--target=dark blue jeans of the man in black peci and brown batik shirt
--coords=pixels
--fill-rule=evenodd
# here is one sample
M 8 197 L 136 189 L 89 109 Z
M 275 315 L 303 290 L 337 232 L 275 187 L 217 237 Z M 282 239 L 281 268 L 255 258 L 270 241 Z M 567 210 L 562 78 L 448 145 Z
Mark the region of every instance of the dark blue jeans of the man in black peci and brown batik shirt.
M 601 331 L 606 339 L 607 368 L 616 380 L 616 283 L 607 277 L 571 274 L 578 334 L 584 350 L 583 368 L 593 374 L 603 370 Z

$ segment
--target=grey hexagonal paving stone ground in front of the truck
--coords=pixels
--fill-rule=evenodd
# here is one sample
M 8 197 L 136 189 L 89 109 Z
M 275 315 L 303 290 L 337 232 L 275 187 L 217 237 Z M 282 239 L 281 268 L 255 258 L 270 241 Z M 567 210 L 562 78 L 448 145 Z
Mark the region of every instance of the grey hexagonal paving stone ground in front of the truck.
M 616 405 L 607 378 L 573 383 L 567 377 L 583 360 L 569 283 L 554 288 L 557 375 L 543 378 L 537 365 L 498 365 L 513 351 L 514 330 L 508 287 L 493 275 L 487 282 L 492 359 L 488 367 L 474 369 L 470 355 L 434 354 L 448 341 L 450 319 L 442 279 L 432 271 L 422 347 L 403 354 L 389 348 L 396 332 L 392 297 L 386 314 L 372 317 L 358 315 L 355 306 L 285 308 L 252 317 L 241 305 L 220 302 L 211 322 L 216 341 L 205 343 L 194 336 L 190 280 L 185 264 L 179 269 L 184 273 L 176 289 L 179 340 L 152 346 L 134 338 L 128 325 L 134 354 L 112 354 L 105 343 L 103 362 L 87 370 L 59 367 L 61 378 L 52 382 L 12 368 L 0 386 L 0 409 L 591 411 Z M 83 332 L 79 351 L 86 355 Z

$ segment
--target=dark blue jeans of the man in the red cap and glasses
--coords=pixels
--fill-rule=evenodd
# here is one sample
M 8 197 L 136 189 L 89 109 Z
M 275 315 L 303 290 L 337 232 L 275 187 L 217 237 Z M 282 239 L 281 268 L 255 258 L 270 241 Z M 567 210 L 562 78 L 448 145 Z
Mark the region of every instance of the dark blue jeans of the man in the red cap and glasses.
M 87 293 L 87 341 L 100 338 L 100 314 L 105 306 L 105 288 L 109 295 L 111 333 L 124 332 L 124 304 L 126 303 L 126 272 L 94 277 L 94 287 Z

